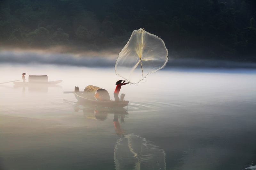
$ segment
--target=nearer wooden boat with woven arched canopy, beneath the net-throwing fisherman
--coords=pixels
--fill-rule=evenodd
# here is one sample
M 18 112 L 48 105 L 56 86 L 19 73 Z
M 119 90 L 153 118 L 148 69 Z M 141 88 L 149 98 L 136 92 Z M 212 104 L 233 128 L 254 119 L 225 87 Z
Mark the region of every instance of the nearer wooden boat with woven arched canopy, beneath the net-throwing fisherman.
M 102 100 L 95 98 L 95 93 L 102 96 Z M 75 87 L 75 97 L 79 102 L 84 104 L 91 104 L 100 107 L 125 107 L 129 101 L 114 101 L 110 100 L 108 91 L 97 86 L 88 85 L 84 92 L 80 92 L 78 87 Z

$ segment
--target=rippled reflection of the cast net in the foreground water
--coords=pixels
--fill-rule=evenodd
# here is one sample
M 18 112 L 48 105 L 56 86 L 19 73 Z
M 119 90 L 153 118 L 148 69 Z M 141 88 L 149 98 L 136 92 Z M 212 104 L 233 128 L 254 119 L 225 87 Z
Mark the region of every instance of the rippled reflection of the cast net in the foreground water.
M 114 160 L 116 170 L 166 169 L 164 150 L 135 134 L 117 139 Z

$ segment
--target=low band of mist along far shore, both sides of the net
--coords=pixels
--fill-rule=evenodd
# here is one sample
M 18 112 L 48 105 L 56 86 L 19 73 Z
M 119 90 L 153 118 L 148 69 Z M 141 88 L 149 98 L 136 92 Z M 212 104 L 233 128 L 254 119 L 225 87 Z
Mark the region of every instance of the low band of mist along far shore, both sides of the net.
M 115 67 L 116 57 L 113 51 L 83 52 L 80 54 L 45 53 L 44 51 L 0 51 L 0 63 L 8 64 L 53 64 L 78 67 Z M 243 68 L 256 69 L 256 63 L 239 63 L 222 60 L 174 59 L 168 56 L 168 68 Z

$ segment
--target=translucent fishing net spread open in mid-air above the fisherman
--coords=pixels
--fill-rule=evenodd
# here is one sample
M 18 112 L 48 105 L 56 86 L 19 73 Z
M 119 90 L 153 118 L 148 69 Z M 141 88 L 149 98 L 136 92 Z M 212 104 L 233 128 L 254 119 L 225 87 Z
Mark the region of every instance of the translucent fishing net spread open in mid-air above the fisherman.
M 148 73 L 164 68 L 168 62 L 167 56 L 168 50 L 161 38 L 141 28 L 134 30 L 118 54 L 116 74 L 132 84 L 139 83 Z

